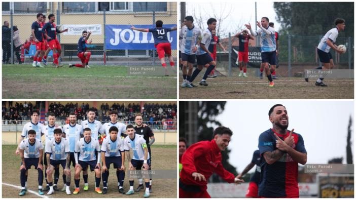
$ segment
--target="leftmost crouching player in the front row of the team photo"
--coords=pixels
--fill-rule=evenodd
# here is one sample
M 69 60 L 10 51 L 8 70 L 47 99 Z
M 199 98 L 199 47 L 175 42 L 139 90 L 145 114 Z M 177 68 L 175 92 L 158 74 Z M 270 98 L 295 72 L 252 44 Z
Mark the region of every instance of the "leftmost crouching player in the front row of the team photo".
M 28 138 L 20 142 L 20 157 L 21 157 L 21 167 L 20 167 L 20 180 L 21 180 L 21 192 L 20 196 L 26 193 L 26 179 L 27 170 L 34 166 L 35 170 L 39 172 L 39 194 L 44 194 L 42 191 L 43 184 L 43 143 L 41 140 L 36 138 L 36 132 L 34 130 L 28 131 Z

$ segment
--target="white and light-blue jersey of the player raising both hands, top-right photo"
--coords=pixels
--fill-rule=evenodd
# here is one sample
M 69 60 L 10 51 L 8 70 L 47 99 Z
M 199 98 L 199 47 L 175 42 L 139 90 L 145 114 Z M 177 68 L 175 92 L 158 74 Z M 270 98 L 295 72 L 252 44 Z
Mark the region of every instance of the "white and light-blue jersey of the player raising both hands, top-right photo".
M 255 36 L 258 35 L 260 37 L 260 50 L 261 52 L 273 52 L 276 51 L 276 41 L 275 41 L 275 30 L 268 26 L 266 28 L 271 34 L 266 34 L 261 28 L 255 31 Z

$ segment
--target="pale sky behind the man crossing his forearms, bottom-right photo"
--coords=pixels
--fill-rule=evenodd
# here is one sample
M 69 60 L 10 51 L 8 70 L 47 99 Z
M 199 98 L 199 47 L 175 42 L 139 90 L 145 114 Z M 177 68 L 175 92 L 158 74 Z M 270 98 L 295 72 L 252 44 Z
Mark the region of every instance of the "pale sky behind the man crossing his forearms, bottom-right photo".
M 286 107 L 289 115 L 288 130 L 294 129 L 295 133 L 302 135 L 308 153 L 307 164 L 327 164 L 329 159 L 335 157 L 344 157 L 343 164 L 346 164 L 350 115 L 354 122 L 353 101 L 228 101 L 216 120 L 233 132 L 228 146 L 231 149 L 229 163 L 236 167 L 238 173 L 251 163 L 253 152 L 258 150 L 259 135 L 272 128 L 268 111 L 275 104 Z M 216 125 L 210 126 L 217 128 Z M 352 124 L 351 151 L 354 159 L 353 130 Z M 250 173 L 255 172 L 255 169 L 256 166 Z

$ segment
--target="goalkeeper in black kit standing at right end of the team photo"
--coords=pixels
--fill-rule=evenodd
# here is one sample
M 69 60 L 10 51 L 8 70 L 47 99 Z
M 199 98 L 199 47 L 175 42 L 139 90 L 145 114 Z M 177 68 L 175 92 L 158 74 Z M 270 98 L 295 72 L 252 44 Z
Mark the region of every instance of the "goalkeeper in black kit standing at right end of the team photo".
M 135 123 L 136 123 L 136 127 L 134 127 L 135 133 L 138 135 L 141 135 L 144 137 L 145 141 L 146 141 L 146 145 L 147 145 L 147 149 L 149 151 L 149 155 L 150 155 L 150 162 L 149 162 L 149 170 L 151 170 L 151 165 L 152 165 L 152 154 L 151 154 L 151 145 L 155 142 L 155 135 L 153 134 L 152 129 L 143 124 L 143 119 L 141 114 L 137 114 L 135 117 Z M 150 141 L 151 138 L 151 141 Z M 136 170 L 141 170 L 141 165 L 137 165 Z M 142 182 L 142 179 L 138 179 L 138 187 L 137 189 L 135 189 L 135 192 L 138 192 L 141 189 L 144 189 L 144 184 Z M 150 179 L 150 186 L 149 186 L 149 190 L 150 193 L 152 192 L 152 179 Z

